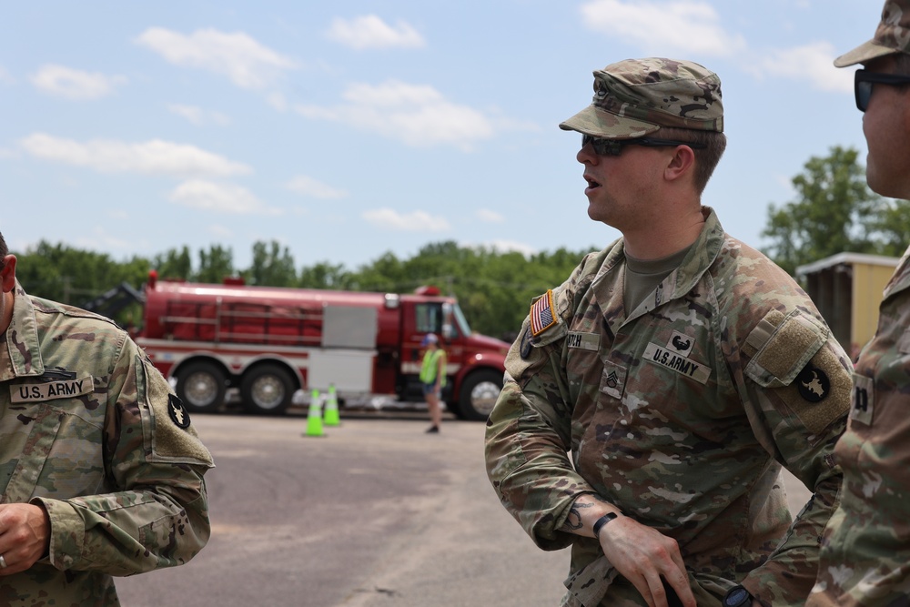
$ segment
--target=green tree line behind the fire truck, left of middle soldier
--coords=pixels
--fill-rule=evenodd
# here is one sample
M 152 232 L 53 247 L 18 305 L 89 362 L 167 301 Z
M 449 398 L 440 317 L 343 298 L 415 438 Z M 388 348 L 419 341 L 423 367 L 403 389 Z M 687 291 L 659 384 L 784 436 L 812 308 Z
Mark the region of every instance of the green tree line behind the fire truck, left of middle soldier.
M 387 252 L 356 269 L 320 261 L 297 267 L 288 247 L 277 241 L 256 242 L 248 268 L 237 268 L 233 251 L 220 245 L 171 248 L 153 258 L 117 261 L 65 244 L 41 241 L 18 258 L 16 276 L 29 294 L 85 307 L 111 288 L 126 283 L 141 290 L 154 269 L 159 279 L 220 283 L 242 277 L 248 285 L 410 293 L 425 285 L 458 298 L 471 329 L 512 339 L 531 307 L 531 299 L 560 285 L 581 258 L 593 250 L 560 248 L 525 257 L 492 248 L 461 247 L 454 241 L 431 243 L 411 258 Z M 138 304 L 111 314 L 123 326 L 141 324 Z

